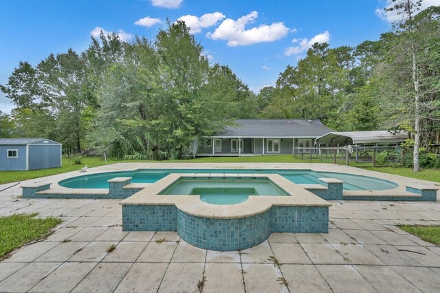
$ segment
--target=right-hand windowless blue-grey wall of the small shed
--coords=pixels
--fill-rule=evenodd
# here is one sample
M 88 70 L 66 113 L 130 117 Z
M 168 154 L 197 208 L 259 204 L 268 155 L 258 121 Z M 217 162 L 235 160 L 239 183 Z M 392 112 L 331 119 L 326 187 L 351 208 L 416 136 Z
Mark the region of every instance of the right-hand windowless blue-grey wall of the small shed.
M 30 144 L 29 170 L 61 166 L 61 144 Z

